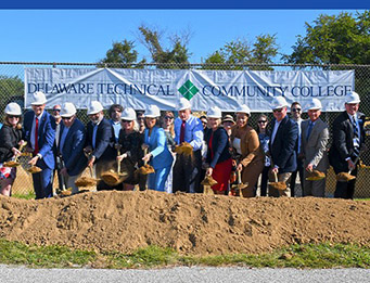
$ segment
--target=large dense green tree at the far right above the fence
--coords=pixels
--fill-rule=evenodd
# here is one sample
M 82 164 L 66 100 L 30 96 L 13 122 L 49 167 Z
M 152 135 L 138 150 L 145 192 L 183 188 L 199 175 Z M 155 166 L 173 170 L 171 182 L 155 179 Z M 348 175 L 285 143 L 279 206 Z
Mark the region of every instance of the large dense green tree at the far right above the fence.
M 321 14 L 306 25 L 306 35 L 297 36 L 293 52 L 283 56 L 293 64 L 369 64 L 370 11 Z

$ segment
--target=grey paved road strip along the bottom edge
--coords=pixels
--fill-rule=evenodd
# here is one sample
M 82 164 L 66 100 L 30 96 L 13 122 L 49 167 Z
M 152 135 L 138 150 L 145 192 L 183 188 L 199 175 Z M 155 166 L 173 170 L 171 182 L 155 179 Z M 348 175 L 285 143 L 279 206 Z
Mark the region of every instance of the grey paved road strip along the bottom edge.
M 0 266 L 0 282 L 69 283 L 69 282 L 370 282 L 366 269 L 248 269 L 242 267 L 177 267 L 152 270 L 107 269 L 28 269 Z

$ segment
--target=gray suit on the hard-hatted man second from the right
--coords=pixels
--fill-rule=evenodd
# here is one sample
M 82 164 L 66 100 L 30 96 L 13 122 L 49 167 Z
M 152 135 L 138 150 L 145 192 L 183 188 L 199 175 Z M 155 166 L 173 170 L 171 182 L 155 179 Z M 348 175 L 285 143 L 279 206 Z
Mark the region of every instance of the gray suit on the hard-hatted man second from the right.
M 308 126 L 309 119 L 302 123 L 302 152 L 305 156 L 304 168 L 306 169 L 308 164 L 314 165 L 314 169 L 319 170 L 321 172 L 327 173 L 329 169 L 329 158 L 328 158 L 328 141 L 329 141 L 329 129 L 327 123 L 322 121 L 318 118 L 315 121 L 312 130 L 308 137 Z M 326 180 L 327 178 L 320 181 L 307 181 L 306 177 L 308 172 L 305 170 L 304 172 L 304 196 L 312 195 L 324 197 L 326 193 Z

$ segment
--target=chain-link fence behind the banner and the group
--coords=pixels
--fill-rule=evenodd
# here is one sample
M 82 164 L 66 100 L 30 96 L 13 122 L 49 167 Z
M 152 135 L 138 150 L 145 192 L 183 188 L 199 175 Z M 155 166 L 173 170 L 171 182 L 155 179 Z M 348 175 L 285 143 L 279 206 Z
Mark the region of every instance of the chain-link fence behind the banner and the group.
M 24 108 L 24 69 L 26 67 L 111 67 L 111 68 L 145 68 L 145 69 L 248 69 L 248 70 L 355 70 L 355 89 L 361 97 L 360 112 L 370 117 L 370 65 L 317 65 L 317 64 L 101 64 L 101 63 L 30 63 L 30 62 L 0 62 L 0 115 L 3 117 L 5 105 L 10 102 L 17 102 Z M 50 111 L 50 110 L 49 110 Z M 253 110 L 252 110 L 253 112 Z M 229 113 L 233 114 L 233 113 Z M 253 113 L 250 125 L 257 128 L 257 119 L 261 113 Z M 272 113 L 264 113 L 272 119 Z M 339 113 L 322 113 L 321 118 L 328 123 L 330 130 L 333 120 Z M 79 111 L 78 117 L 87 123 L 86 111 Z M 307 114 L 303 114 L 307 118 Z M 369 139 L 366 144 L 370 149 Z M 370 151 L 361 156 L 363 166 L 359 169 L 356 183 L 355 197 L 370 197 Z M 368 168 L 369 166 L 369 168 Z M 299 179 L 297 177 L 297 179 Z M 56 184 L 56 182 L 54 182 Z M 54 185 L 55 186 L 55 185 Z M 327 196 L 332 197 L 335 190 L 335 176 L 332 169 L 329 170 L 327 178 Z M 302 193 L 301 188 L 295 189 L 297 194 Z M 18 168 L 17 178 L 13 186 L 13 193 L 28 194 L 33 192 L 31 177 L 22 168 Z

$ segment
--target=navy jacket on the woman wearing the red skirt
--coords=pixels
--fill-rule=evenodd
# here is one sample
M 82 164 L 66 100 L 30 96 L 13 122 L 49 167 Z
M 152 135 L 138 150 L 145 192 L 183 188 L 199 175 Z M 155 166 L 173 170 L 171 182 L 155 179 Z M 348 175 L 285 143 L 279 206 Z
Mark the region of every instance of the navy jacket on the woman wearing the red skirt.
M 204 140 L 206 141 L 207 145 L 209 143 L 212 132 L 213 130 L 208 129 L 204 133 Z M 227 131 L 224 128 L 218 128 L 216 131 L 214 131 L 214 137 L 212 139 L 212 150 L 214 152 L 214 156 L 212 158 L 208 146 L 206 163 L 208 163 L 212 168 L 215 168 L 216 164 L 231 158 L 229 147 L 229 136 Z

